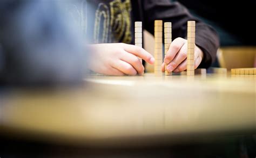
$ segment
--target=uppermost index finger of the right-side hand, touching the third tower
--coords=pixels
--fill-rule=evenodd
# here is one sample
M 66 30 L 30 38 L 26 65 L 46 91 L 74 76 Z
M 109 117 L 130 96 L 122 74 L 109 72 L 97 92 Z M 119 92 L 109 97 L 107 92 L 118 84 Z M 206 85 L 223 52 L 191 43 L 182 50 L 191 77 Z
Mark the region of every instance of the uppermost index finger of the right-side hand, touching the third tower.
M 186 40 L 183 38 L 177 38 L 172 41 L 169 50 L 166 53 L 164 63 L 169 64 L 179 52 L 180 48 L 186 44 Z

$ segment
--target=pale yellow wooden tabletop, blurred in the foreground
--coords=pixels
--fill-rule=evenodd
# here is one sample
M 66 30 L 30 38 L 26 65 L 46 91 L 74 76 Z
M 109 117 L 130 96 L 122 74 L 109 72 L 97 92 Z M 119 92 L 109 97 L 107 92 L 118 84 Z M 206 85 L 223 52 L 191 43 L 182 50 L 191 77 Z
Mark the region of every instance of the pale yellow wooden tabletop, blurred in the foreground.
M 255 83 L 255 75 L 91 75 L 79 88 L 11 90 L 1 95 L 0 133 L 145 145 L 255 132 Z

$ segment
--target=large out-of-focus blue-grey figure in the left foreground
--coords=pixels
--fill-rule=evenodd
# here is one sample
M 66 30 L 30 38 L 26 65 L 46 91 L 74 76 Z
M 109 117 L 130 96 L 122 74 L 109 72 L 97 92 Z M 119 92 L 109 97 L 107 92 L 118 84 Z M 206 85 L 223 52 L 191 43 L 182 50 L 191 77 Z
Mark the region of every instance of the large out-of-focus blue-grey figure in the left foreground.
M 63 85 L 85 76 L 84 40 L 58 1 L 0 1 L 0 85 Z

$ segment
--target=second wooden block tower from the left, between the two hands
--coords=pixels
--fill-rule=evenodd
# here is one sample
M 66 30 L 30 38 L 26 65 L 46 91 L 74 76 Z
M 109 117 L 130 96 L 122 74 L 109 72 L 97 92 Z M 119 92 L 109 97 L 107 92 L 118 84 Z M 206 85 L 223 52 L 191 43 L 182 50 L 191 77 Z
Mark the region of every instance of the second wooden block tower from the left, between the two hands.
M 163 63 L 163 21 L 154 20 L 154 74 L 161 75 L 161 64 Z

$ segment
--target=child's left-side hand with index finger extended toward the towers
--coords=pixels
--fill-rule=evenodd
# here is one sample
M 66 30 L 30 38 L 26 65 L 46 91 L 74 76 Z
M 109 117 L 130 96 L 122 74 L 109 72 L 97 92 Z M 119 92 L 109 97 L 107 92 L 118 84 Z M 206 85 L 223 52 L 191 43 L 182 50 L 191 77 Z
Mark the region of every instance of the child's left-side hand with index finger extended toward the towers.
M 138 59 L 153 64 L 153 56 L 145 49 L 128 44 L 96 44 L 92 47 L 89 67 L 105 75 L 142 75 L 144 66 Z

